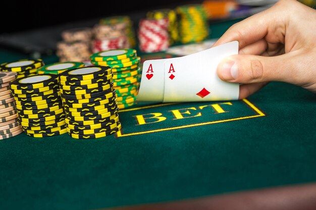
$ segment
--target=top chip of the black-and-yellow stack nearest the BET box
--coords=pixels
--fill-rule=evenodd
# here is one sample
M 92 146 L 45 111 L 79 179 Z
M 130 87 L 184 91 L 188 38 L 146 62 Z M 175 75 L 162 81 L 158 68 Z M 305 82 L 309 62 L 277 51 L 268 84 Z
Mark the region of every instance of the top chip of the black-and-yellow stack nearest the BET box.
M 106 77 L 112 74 L 110 66 L 87 66 L 69 70 L 60 74 L 61 81 L 81 81 Z M 110 79 L 110 78 L 109 78 Z

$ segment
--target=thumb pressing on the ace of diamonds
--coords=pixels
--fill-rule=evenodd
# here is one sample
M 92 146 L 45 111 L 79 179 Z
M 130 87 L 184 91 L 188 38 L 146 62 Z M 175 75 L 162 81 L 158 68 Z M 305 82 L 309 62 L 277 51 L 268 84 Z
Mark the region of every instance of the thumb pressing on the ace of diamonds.
M 288 81 L 289 71 L 294 71 L 289 55 L 265 57 L 258 55 L 232 55 L 222 60 L 217 67 L 221 80 L 236 83 L 261 83 Z

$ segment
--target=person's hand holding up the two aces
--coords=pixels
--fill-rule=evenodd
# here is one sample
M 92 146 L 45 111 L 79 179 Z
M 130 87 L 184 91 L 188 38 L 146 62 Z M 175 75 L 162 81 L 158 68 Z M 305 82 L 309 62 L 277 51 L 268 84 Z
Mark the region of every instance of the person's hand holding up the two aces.
M 281 81 L 316 93 L 316 10 L 281 0 L 230 27 L 213 47 L 237 40 L 239 54 L 217 67 L 221 80 L 241 83 L 239 99 Z

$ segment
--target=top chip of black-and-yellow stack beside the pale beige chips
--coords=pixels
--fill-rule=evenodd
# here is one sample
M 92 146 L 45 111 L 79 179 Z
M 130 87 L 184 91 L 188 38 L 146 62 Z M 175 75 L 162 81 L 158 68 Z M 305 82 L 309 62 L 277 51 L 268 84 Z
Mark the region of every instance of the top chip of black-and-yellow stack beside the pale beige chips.
M 10 82 L 10 88 L 13 90 L 44 88 L 58 84 L 58 82 L 58 75 L 37 75 L 14 80 Z

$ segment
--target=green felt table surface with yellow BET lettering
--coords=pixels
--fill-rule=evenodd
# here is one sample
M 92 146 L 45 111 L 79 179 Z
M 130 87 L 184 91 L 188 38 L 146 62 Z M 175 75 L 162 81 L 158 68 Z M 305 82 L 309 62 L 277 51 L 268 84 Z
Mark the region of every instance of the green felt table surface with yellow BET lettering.
M 212 23 L 210 38 L 238 21 Z M 157 56 L 168 57 L 141 55 Z M 0 141 L 0 209 L 100 209 L 311 184 L 315 116 L 315 94 L 271 82 L 238 101 L 138 103 L 120 110 L 121 132 L 102 138 L 22 133 Z

